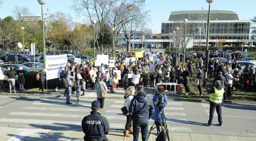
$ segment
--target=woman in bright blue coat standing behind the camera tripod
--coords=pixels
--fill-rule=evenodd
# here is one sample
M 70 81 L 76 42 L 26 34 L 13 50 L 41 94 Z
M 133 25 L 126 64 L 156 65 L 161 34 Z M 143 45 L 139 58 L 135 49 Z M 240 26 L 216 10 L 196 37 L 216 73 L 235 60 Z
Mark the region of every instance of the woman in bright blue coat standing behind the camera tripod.
M 151 117 L 151 119 L 156 121 L 157 135 L 159 135 L 160 125 L 161 125 L 161 123 L 162 123 L 162 125 L 164 125 L 164 122 L 165 122 L 164 107 L 168 103 L 167 96 L 164 93 L 164 86 L 163 85 L 158 85 L 157 86 L 156 93 L 154 94 L 154 97 L 153 97 L 153 103 L 154 103 L 154 114 Z M 163 117 L 163 115 L 160 115 L 159 109 L 163 110 L 164 117 Z

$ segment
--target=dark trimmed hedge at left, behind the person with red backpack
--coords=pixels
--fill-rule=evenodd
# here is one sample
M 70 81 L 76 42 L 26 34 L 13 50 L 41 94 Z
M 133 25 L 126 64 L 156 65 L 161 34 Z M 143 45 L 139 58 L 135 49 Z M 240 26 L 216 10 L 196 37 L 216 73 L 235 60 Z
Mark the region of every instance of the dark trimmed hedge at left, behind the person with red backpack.
M 38 88 L 39 81 L 36 80 L 36 75 L 40 70 L 32 70 L 26 72 L 25 84 L 26 88 Z M 50 79 L 47 81 L 48 88 L 60 87 L 61 83 L 58 78 Z

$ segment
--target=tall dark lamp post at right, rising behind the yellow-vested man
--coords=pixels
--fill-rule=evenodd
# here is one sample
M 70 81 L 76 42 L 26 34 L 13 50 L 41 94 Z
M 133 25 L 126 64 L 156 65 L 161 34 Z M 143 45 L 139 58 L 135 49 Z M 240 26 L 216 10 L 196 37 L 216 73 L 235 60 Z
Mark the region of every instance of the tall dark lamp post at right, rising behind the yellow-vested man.
M 206 88 L 207 85 L 207 68 L 209 62 L 209 33 L 210 33 L 210 10 L 211 10 L 211 3 L 214 0 L 206 0 L 209 3 L 209 11 L 208 11 L 208 26 L 207 26 L 207 38 L 206 38 L 206 59 L 205 59 L 205 74 L 204 74 L 204 87 Z

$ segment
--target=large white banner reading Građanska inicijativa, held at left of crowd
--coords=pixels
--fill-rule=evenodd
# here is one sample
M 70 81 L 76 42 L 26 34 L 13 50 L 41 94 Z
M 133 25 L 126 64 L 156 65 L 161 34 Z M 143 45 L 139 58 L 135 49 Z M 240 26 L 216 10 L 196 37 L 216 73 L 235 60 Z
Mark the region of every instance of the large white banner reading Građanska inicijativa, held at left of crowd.
M 67 55 L 46 55 L 46 79 L 59 78 L 61 71 L 67 65 L 68 59 Z

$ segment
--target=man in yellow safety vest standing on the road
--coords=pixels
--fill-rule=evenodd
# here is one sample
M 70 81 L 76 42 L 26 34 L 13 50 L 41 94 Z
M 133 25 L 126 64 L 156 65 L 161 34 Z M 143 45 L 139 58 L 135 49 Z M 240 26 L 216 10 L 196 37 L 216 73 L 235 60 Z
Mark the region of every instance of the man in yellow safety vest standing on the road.
M 217 114 L 218 114 L 218 122 L 219 126 L 222 126 L 222 116 L 221 116 L 221 102 L 223 98 L 224 89 L 221 86 L 221 82 L 217 80 L 215 82 L 215 86 L 210 89 L 209 92 L 210 95 L 210 116 L 208 123 L 206 123 L 206 126 L 211 126 L 211 123 L 213 121 L 213 114 L 216 108 Z

